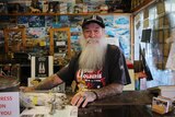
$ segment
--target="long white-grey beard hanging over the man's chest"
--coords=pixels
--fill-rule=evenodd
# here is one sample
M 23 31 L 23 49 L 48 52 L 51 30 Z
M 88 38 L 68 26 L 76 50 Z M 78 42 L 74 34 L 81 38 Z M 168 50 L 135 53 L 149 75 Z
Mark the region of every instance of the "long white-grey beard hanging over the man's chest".
M 100 40 L 100 43 L 94 44 L 94 40 Z M 107 47 L 106 39 L 82 38 L 80 45 L 82 47 L 82 54 L 79 59 L 79 68 L 90 70 L 102 69 Z

